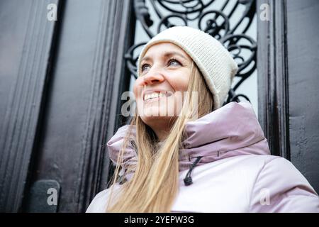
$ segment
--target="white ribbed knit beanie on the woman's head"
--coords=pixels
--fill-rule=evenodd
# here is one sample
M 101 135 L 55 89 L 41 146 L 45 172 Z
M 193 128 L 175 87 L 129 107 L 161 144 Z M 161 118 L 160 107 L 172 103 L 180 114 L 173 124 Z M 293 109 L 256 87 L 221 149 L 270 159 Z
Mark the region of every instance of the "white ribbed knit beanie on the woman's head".
M 166 42 L 179 46 L 194 60 L 213 94 L 213 110 L 223 106 L 238 69 L 237 63 L 218 40 L 196 28 L 175 26 L 155 35 L 140 52 L 138 76 L 140 76 L 140 61 L 147 50 L 152 45 Z

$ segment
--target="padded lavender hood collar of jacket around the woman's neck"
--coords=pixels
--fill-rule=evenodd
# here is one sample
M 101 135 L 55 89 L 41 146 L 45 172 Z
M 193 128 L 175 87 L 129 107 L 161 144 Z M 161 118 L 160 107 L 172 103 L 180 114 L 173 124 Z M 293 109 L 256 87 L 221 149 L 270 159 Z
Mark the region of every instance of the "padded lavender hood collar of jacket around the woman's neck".
M 116 164 L 119 150 L 128 130 L 128 125 L 118 129 L 108 141 L 108 153 Z M 135 128 L 131 136 L 135 137 Z M 179 171 L 195 165 L 234 157 L 237 155 L 270 155 L 267 139 L 249 102 L 233 101 L 206 114 L 185 126 L 186 139 L 182 141 L 184 149 L 179 154 Z M 137 153 L 132 145 L 123 155 L 122 169 L 137 162 Z

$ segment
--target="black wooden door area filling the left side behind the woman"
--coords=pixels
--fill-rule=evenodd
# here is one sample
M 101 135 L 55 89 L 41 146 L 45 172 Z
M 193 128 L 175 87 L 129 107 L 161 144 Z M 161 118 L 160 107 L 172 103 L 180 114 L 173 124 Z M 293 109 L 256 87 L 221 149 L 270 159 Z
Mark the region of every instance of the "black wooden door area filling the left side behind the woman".
M 47 20 L 49 4 L 57 21 Z M 0 1 L 1 211 L 85 211 L 106 187 L 105 144 L 128 89 L 132 7 Z

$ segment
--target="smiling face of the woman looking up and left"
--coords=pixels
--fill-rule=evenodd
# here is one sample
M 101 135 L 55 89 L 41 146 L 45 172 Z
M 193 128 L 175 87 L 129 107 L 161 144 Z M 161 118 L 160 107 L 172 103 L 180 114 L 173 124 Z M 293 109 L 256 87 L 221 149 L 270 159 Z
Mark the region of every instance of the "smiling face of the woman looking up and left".
M 191 57 L 172 43 L 152 45 L 141 60 L 140 77 L 135 81 L 133 92 L 139 116 L 156 134 L 167 130 L 169 121 L 181 110 L 191 62 Z

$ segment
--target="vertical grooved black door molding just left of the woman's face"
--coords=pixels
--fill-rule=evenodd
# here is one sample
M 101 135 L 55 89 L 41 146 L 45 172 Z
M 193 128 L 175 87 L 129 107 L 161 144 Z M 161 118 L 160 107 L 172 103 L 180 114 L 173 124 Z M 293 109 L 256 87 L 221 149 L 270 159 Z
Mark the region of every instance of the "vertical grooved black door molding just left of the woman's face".
M 100 20 L 77 192 L 79 212 L 108 182 L 111 162 L 106 143 L 121 121 L 121 94 L 129 87 L 124 55 L 134 37 L 132 1 L 102 1 Z

